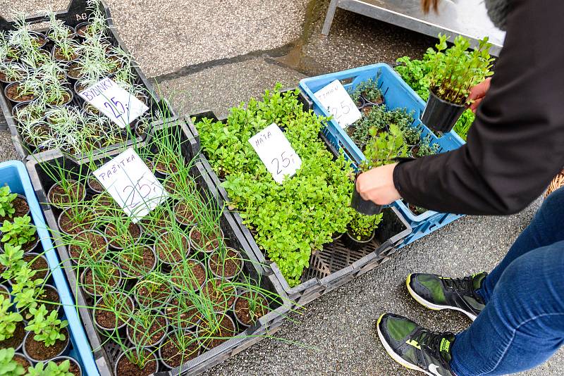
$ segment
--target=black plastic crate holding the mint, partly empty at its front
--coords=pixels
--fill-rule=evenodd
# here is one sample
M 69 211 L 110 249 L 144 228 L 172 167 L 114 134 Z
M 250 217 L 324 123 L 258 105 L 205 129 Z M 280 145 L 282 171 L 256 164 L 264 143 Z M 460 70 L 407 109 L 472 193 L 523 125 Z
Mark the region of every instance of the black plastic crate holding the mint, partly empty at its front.
M 311 102 L 309 102 L 302 94 L 300 94 L 300 101 L 304 104 L 305 110 L 309 110 Z M 213 118 L 218 120 L 212 111 L 206 111 L 193 115 L 196 121 L 202 118 Z M 224 119 L 221 121 L 225 121 Z M 195 129 L 192 121 L 187 122 L 190 129 L 190 146 L 192 147 L 192 155 L 200 156 L 200 161 L 206 168 L 209 177 L 214 181 L 218 187 L 221 200 L 228 203 L 228 194 L 223 187 L 219 177 L 217 177 L 211 165 L 207 161 L 206 156 L 201 153 L 200 137 Z M 338 151 L 326 139 L 324 134 L 320 133 L 319 137 L 326 144 L 334 156 L 338 156 Z M 309 259 L 309 268 L 302 274 L 302 283 L 296 287 L 290 287 L 286 278 L 278 269 L 276 263 L 266 260 L 264 252 L 259 248 L 252 232 L 243 224 L 243 218 L 240 217 L 238 212 L 232 211 L 235 220 L 237 221 L 240 231 L 243 232 L 247 238 L 250 248 L 255 252 L 257 259 L 260 263 L 269 263 L 271 270 L 280 280 L 284 291 L 288 297 L 294 301 L 298 306 L 318 298 L 319 296 L 330 292 L 336 287 L 345 284 L 358 275 L 372 270 L 377 265 L 389 259 L 392 253 L 396 251 L 396 246 L 403 242 L 403 239 L 411 233 L 411 227 L 400 214 L 396 208 L 384 209 L 384 220 L 382 220 L 379 227 L 376 229 L 376 236 L 374 240 L 367 244 L 367 246 L 355 251 L 348 249 L 341 239 L 337 239 L 331 244 L 326 244 L 322 251 L 312 253 Z

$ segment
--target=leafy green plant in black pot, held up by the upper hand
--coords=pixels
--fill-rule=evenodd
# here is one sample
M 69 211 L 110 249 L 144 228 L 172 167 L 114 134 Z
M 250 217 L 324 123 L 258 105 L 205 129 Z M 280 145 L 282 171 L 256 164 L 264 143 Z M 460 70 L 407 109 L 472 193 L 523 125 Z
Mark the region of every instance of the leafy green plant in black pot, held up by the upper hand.
M 429 99 L 422 122 L 433 130 L 450 132 L 465 111 L 470 89 L 491 72 L 493 58 L 489 55 L 488 38 L 479 41 L 477 49 L 469 51 L 470 41 L 458 36 L 447 48 L 448 36 L 439 34 L 439 43 L 427 51 Z

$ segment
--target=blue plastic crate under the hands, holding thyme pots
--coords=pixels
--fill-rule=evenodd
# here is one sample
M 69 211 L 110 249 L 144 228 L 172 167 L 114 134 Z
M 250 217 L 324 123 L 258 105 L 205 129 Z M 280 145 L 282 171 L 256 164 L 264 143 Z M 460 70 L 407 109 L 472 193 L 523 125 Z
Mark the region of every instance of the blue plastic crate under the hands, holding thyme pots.
M 438 144 L 440 153 L 458 149 L 465 144 L 455 132 L 444 133 L 441 134 L 441 137 L 437 137 L 436 134 L 419 120 L 425 108 L 425 102 L 419 98 L 413 89 L 401 79 L 400 75 L 387 64 L 378 63 L 343 70 L 342 72 L 305 78 L 300 81 L 300 89 L 312 100 L 315 113 L 329 116 L 331 114 L 326 108 L 321 106 L 314 96 L 314 92 L 317 92 L 334 80 L 340 80 L 348 92 L 353 92 L 357 84 L 370 79 L 378 82 L 379 88 L 384 93 L 384 101 L 388 108 L 406 108 L 407 112 L 413 113 L 415 120 L 412 126 L 417 127 L 422 132 L 422 139 L 429 136 L 431 143 Z M 329 122 L 326 123 L 324 134 L 336 149 L 343 149 L 345 156 L 350 159 L 353 165 L 364 161 L 365 158 L 362 151 L 355 145 L 353 140 L 350 139 L 345 130 L 338 125 L 336 120 L 329 120 Z M 436 211 L 427 211 L 423 214 L 415 215 L 405 206 L 403 201 L 396 201 L 393 203 L 393 206 L 398 208 L 412 227 L 412 233 L 405 239 L 403 246 L 462 217 L 462 215 L 458 214 L 437 213 Z

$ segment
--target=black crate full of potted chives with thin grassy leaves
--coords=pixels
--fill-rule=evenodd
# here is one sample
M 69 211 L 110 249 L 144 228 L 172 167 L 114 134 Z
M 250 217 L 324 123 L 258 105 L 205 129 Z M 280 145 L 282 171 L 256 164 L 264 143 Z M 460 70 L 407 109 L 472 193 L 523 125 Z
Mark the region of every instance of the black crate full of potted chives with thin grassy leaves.
M 92 175 L 119 151 L 27 162 L 101 373 L 197 374 L 270 337 L 292 306 L 219 206 L 185 127 L 133 146 L 168 193 L 137 223 Z

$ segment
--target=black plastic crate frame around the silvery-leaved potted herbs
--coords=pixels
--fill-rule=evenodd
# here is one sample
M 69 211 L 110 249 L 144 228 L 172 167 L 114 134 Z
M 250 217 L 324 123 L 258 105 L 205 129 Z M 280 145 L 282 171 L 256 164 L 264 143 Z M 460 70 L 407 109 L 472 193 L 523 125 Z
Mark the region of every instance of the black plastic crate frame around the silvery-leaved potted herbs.
M 121 49 L 123 49 L 123 51 L 125 51 L 125 53 L 130 55 L 128 49 L 125 47 L 125 44 L 123 43 L 121 37 L 118 34 L 116 27 L 114 27 L 114 21 L 111 18 L 111 13 L 109 11 L 109 8 L 102 0 L 100 0 L 99 6 L 103 8 L 101 9 L 101 11 L 106 15 L 106 22 L 108 26 L 107 37 L 109 38 L 109 41 L 111 42 L 111 44 L 113 44 L 114 46 L 119 46 Z M 87 8 L 87 0 L 72 0 L 71 4 L 69 4 L 68 6 L 68 9 L 66 11 L 56 13 L 56 16 L 57 19 L 63 20 L 66 25 L 71 27 L 75 27 L 79 23 L 87 21 L 88 18 L 90 17 L 90 11 Z M 47 21 L 47 17 L 46 16 L 30 17 L 27 18 L 26 21 L 32 24 L 44 23 Z M 13 29 L 13 22 L 6 20 L 6 18 L 0 15 L 0 30 L 4 30 L 7 32 L 8 30 L 11 29 Z M 35 31 L 43 32 L 44 30 L 35 30 Z M 46 46 L 52 46 L 52 42 L 48 42 Z M 147 90 L 147 94 L 149 96 L 147 103 L 147 106 L 149 107 L 148 112 L 157 114 L 157 111 L 165 110 L 165 112 L 167 113 L 166 115 L 168 115 L 168 119 L 166 121 L 168 120 L 172 121 L 178 119 L 178 116 L 176 115 L 172 106 L 168 104 L 168 101 L 166 101 L 166 99 L 162 99 L 159 96 L 159 94 L 157 94 L 157 92 L 154 91 L 152 84 L 149 82 L 149 80 L 147 80 L 147 77 L 145 77 L 145 75 L 142 73 L 141 69 L 139 68 L 139 65 L 137 65 L 137 63 L 135 63 L 134 60 L 132 60 L 132 68 L 133 70 L 135 70 L 135 77 L 136 77 L 135 83 L 141 84 Z M 22 158 L 23 160 L 46 158 L 46 156 L 48 156 L 49 153 L 53 151 L 57 151 L 58 149 L 51 149 L 49 151 L 39 151 L 37 149 L 30 149 L 30 146 L 27 146 L 25 144 L 20 133 L 18 132 L 16 120 L 12 117 L 13 104 L 9 99 L 6 98 L 6 96 L 4 96 L 5 87 L 6 84 L 4 84 L 4 82 L 0 82 L 0 89 L 1 89 L 0 108 L 2 110 L 4 118 L 6 119 L 5 120 L 6 127 L 8 127 L 8 129 L 11 132 L 13 145 L 16 148 L 16 151 L 20 156 L 20 158 Z M 80 96 L 78 96 L 78 94 L 76 94 L 73 89 L 71 91 L 74 94 L 74 98 L 71 101 L 71 104 L 68 104 L 68 106 L 74 106 L 80 108 L 84 100 L 80 98 Z M 154 120 L 149 127 L 158 127 L 162 123 L 163 121 Z M 3 123 L 0 121 L 0 130 L 2 130 L 2 125 Z M 95 149 L 94 155 L 97 155 L 99 153 L 105 153 L 107 151 L 117 150 L 117 149 L 125 149 L 128 146 L 131 146 L 132 144 L 144 141 L 145 138 L 149 136 L 149 134 L 140 135 L 137 134 L 135 131 L 132 131 L 130 132 L 130 134 L 128 134 L 128 136 L 129 136 L 128 141 L 123 142 L 121 144 L 114 144 L 111 146 L 105 146 L 102 149 Z

